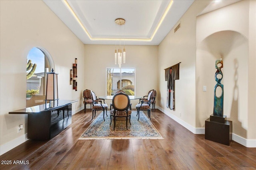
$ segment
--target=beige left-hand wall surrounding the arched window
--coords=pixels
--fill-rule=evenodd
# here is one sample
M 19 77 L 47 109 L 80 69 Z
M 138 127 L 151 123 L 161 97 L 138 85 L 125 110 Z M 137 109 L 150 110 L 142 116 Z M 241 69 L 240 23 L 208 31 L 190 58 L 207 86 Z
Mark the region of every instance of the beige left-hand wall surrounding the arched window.
M 59 73 L 59 98 L 80 100 L 84 87 L 84 44 L 64 25 L 43 1 L 0 1 L 0 145 L 18 144 L 27 133 L 27 116 L 8 112 L 26 108 L 26 58 L 33 47 L 42 47 L 52 56 Z M 70 85 L 70 69 L 78 58 L 78 91 Z M 79 111 L 81 101 L 73 104 Z M 18 126 L 24 129 L 17 133 Z M 15 143 L 16 142 L 16 143 Z M 18 141 L 24 142 L 24 141 Z M 12 147 L 14 147 L 12 146 Z

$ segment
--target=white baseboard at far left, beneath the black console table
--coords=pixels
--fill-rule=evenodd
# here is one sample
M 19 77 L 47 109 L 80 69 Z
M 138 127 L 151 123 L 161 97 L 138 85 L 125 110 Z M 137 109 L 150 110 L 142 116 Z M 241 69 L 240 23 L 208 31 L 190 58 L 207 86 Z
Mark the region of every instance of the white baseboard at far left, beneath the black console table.
M 27 140 L 28 136 L 27 134 L 24 134 L 22 136 L 19 136 L 18 138 L 15 138 L 14 140 L 11 140 L 10 142 L 0 145 L 0 155 L 8 152 L 9 150 L 12 150 L 16 146 L 19 146 L 20 144 L 26 142 Z

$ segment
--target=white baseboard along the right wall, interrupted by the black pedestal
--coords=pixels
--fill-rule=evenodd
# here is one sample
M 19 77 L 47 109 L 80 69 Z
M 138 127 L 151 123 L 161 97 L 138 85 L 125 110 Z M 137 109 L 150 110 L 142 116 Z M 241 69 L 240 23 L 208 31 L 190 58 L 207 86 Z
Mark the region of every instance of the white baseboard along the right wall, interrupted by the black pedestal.
M 167 112 L 163 108 L 160 108 L 158 106 L 156 106 L 156 107 L 158 108 L 158 110 L 160 110 L 161 112 L 163 112 L 164 114 L 166 114 L 167 116 L 169 116 L 170 118 L 172 118 L 173 120 L 178 122 L 180 125 L 184 126 L 190 132 L 192 132 L 194 134 L 204 134 L 205 133 L 204 128 L 195 128 L 195 127 L 191 126 L 190 124 L 184 122 L 180 118 L 174 116 L 170 112 Z M 237 142 L 247 148 L 256 148 L 256 140 L 245 139 L 245 138 L 242 138 L 241 136 L 238 136 L 234 133 L 232 133 L 232 140 L 234 140 L 235 142 Z

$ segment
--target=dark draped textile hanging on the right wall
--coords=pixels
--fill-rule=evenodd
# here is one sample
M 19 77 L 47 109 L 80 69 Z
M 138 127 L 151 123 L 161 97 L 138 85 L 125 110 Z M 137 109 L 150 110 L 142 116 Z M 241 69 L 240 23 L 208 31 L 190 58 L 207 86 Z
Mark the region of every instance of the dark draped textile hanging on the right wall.
M 174 97 L 174 80 L 180 79 L 180 63 L 175 64 L 165 70 L 165 81 L 167 81 L 167 104 L 166 107 L 174 110 L 175 97 Z

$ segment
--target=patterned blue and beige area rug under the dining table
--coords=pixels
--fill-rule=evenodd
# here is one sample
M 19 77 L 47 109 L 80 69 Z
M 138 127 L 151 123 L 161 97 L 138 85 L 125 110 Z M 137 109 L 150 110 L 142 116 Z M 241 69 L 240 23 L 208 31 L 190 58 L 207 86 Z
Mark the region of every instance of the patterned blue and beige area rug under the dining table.
M 109 111 L 108 117 L 105 115 L 105 122 L 103 120 L 103 112 L 101 112 L 79 139 L 163 139 L 142 111 L 140 111 L 139 121 L 136 114 L 136 111 L 132 111 L 131 125 L 128 120 L 128 130 L 126 130 L 125 120 L 116 120 L 116 128 L 114 130 L 114 121 L 110 125 Z

